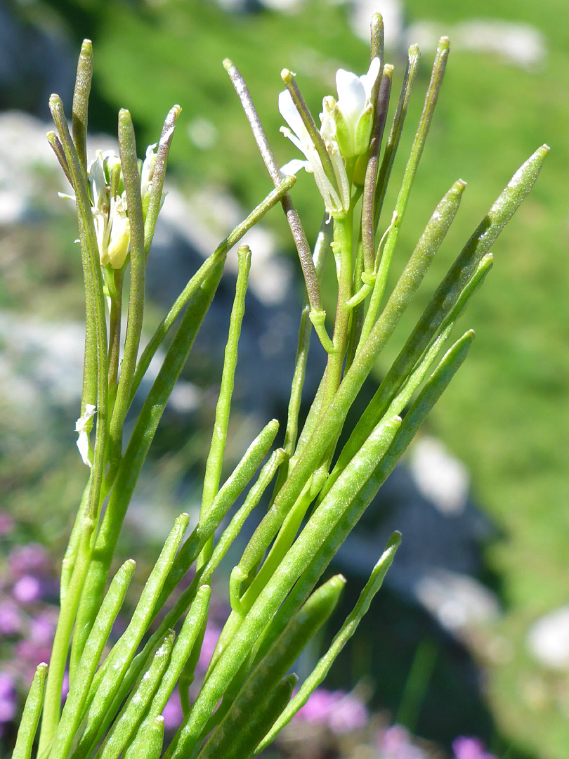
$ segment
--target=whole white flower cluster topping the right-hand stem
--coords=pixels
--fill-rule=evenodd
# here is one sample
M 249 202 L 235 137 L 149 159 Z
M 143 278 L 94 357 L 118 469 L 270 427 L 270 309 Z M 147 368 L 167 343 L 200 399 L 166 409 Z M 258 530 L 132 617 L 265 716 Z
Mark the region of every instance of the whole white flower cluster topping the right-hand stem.
M 296 174 L 304 168 L 312 173 L 328 213 L 345 212 L 350 207 L 350 178 L 346 160 L 361 156 L 368 149 L 373 123 L 373 89 L 379 76 L 379 66 L 379 58 L 373 58 L 367 74 L 361 77 L 343 68 L 338 69 L 338 100 L 332 96 L 322 100 L 319 134 L 332 164 L 333 179 L 322 165 L 314 140 L 291 93 L 285 90 L 278 96 L 278 109 L 289 127 L 281 127 L 281 132 L 306 157 L 304 161 L 289 161 L 281 172 L 284 175 Z

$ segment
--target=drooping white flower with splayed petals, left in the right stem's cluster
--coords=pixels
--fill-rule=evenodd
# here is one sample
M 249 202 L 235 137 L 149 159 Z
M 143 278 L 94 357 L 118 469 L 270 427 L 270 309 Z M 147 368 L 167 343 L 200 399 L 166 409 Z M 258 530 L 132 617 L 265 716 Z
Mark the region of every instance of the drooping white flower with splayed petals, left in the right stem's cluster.
M 334 169 L 335 185 L 326 176 L 322 168 L 322 161 L 316 151 L 313 141 L 304 126 L 300 113 L 294 106 L 291 93 L 288 90 L 281 92 L 278 96 L 278 110 L 285 119 L 290 129 L 281 127 L 281 132 L 288 137 L 291 142 L 297 146 L 301 153 L 304 153 L 306 160 L 294 159 L 289 161 L 281 168 L 283 175 L 296 174 L 300 168 L 311 172 L 316 180 L 320 194 L 324 200 L 325 209 L 328 213 L 338 213 L 347 211 L 350 207 L 350 184 L 347 180 L 346 168 L 341 158 L 338 144 L 334 140 L 328 140 L 322 134 L 325 141 L 325 148 L 332 161 Z

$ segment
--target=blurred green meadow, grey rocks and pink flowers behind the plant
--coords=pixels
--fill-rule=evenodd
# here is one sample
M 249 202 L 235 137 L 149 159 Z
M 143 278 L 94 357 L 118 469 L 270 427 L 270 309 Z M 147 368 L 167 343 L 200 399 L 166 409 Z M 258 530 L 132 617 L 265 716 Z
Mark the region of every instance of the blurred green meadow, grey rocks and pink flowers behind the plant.
M 386 59 L 395 65 L 394 92 L 407 47 L 419 43 L 422 51 L 385 209 L 395 200 L 437 39 L 451 39 L 395 272 L 451 183 L 458 177 L 468 183 L 453 228 L 376 367 L 376 379 L 515 169 L 543 142 L 552 153 L 495 244 L 492 274 L 463 317 L 461 327 L 472 326 L 477 335 L 467 364 L 338 557 L 336 568 L 350 581 L 345 615 L 389 531 L 401 529 L 403 544 L 387 587 L 332 669 L 319 701 L 282 736 L 273 755 L 416 759 L 452 752 L 457 759 L 481 759 L 488 756 L 484 744 L 509 759 L 567 757 L 565 0 L 542 0 L 539 7 L 530 0 L 0 0 L 5 745 L 30 672 L 49 655 L 57 562 L 85 478 L 73 432 L 83 345 L 81 272 L 74 213 L 71 203 L 57 197 L 66 188 L 45 140 L 49 94 L 61 94 L 69 112 L 77 53 L 89 37 L 95 60 L 92 147 L 115 144 L 117 112 L 127 107 L 143 156 L 159 138 L 168 109 L 182 106 L 149 264 L 150 334 L 181 283 L 271 189 L 222 59 L 231 58 L 244 74 L 278 161 L 285 163 L 297 156 L 278 134 L 281 68 L 297 73 L 317 114 L 322 96 L 335 91 L 339 67 L 366 71 L 369 18 L 376 10 L 384 15 Z M 294 202 L 313 240 L 322 205 L 310 177 L 299 175 Z M 275 209 L 248 238 L 253 270 L 228 471 L 269 415 L 285 414 L 302 291 L 281 216 Z M 234 258 L 168 405 L 119 556 L 136 551 L 138 558 L 144 543 L 151 562 L 174 515 L 199 503 Z M 332 304 L 329 275 L 324 298 Z M 322 368 L 317 345 L 313 362 L 309 388 Z M 143 570 L 137 575 L 142 581 Z M 222 592 L 219 625 L 227 602 Z M 322 647 L 340 624 L 338 615 L 319 641 Z M 315 645 L 301 668 L 309 669 L 310 657 L 318 655 Z

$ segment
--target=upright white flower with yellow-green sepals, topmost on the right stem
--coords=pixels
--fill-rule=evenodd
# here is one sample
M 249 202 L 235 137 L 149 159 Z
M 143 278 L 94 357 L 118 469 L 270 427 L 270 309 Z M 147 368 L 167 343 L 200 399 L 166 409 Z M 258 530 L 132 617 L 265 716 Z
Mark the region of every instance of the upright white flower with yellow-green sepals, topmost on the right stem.
M 373 58 L 367 74 L 357 77 L 339 68 L 336 73 L 338 101 L 322 102 L 322 130 L 338 143 L 344 158 L 361 156 L 369 146 L 373 122 L 372 90 L 379 76 L 379 58 Z

